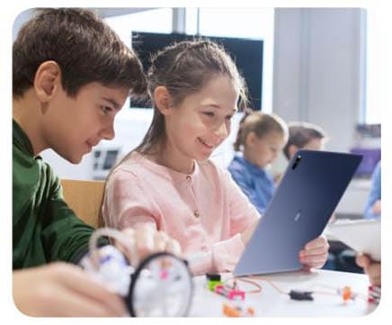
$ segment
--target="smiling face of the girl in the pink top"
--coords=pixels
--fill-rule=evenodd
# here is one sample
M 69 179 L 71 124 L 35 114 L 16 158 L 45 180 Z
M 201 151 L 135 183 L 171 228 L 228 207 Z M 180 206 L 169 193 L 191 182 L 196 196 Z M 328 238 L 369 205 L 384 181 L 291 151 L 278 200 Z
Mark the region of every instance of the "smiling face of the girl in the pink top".
M 165 113 L 166 149 L 173 159 L 189 163 L 209 158 L 230 133 L 238 93 L 227 76 L 212 77 L 199 92 Z

